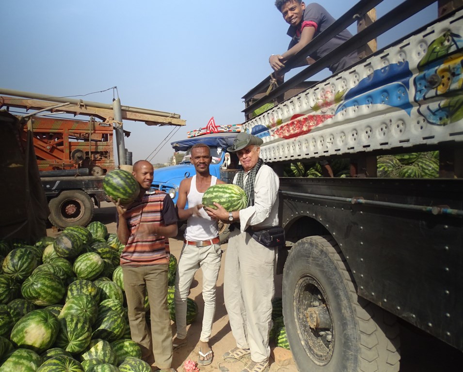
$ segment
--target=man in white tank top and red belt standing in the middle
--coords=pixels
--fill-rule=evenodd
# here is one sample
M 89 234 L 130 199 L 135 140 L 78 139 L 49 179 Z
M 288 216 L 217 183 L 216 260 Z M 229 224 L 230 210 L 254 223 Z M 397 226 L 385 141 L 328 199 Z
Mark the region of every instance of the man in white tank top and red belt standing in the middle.
M 192 147 L 191 162 L 196 174 L 180 183 L 178 190 L 178 217 L 187 219 L 185 240 L 178 259 L 175 282 L 175 314 L 177 334 L 174 348 L 186 343 L 187 297 L 193 276 L 201 267 L 203 272 L 204 315 L 199 339 L 198 365 L 212 363 L 209 339 L 215 313 L 216 282 L 219 275 L 222 251 L 219 244 L 218 221 L 208 216 L 202 205 L 204 192 L 209 186 L 224 184 L 209 173 L 212 160 L 209 147 L 199 143 Z M 188 209 L 184 209 L 188 201 Z

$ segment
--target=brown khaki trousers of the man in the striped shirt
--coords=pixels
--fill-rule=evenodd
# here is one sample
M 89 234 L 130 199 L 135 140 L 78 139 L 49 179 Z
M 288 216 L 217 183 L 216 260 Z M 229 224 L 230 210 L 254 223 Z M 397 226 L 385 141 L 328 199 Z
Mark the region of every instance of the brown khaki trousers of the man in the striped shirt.
M 143 359 L 151 362 L 154 356 L 156 366 L 161 369 L 171 367 L 173 356 L 171 320 L 167 310 L 168 267 L 167 264 L 122 267 L 132 340 L 140 344 Z M 146 293 L 151 335 L 144 310 Z

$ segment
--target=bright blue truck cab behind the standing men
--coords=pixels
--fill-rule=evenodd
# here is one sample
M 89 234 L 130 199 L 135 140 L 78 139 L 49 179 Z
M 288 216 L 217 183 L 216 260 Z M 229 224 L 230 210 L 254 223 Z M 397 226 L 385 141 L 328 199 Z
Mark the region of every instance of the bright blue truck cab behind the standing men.
M 238 166 L 238 158 L 235 154 L 228 153 L 226 149 L 233 144 L 235 136 L 236 132 L 211 133 L 172 142 L 172 148 L 176 152 L 185 151 L 185 155 L 179 164 L 154 171 L 152 186 L 167 192 L 176 203 L 180 182 L 195 174 L 190 158 L 192 146 L 196 143 L 205 143 L 210 148 L 210 155 L 212 156 L 212 162 L 209 166 L 210 174 L 231 183 Z

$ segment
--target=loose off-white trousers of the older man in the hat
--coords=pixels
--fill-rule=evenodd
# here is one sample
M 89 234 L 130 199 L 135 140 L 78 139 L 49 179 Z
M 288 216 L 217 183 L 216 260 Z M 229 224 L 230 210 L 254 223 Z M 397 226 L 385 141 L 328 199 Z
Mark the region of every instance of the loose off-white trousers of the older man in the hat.
M 225 307 L 237 346 L 250 349 L 251 359 L 257 363 L 270 356 L 275 263 L 275 248 L 264 247 L 238 229 L 230 234 L 225 256 Z

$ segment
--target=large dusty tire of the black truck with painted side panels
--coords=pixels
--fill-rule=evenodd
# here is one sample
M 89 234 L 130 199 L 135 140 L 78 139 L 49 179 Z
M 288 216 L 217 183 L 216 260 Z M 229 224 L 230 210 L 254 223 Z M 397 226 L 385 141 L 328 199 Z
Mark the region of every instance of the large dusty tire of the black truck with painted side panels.
M 311 236 L 283 270 L 283 316 L 300 371 L 399 371 L 396 317 L 359 297 L 337 244 Z

